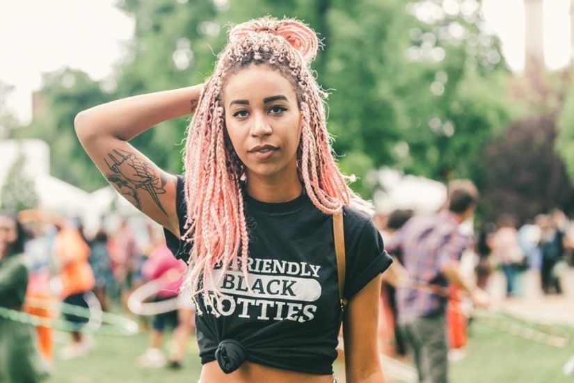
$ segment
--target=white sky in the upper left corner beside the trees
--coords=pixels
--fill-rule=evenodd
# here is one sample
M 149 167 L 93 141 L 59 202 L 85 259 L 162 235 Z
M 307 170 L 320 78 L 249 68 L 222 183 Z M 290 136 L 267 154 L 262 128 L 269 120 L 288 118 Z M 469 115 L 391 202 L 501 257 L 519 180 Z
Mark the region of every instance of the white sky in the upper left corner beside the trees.
M 111 74 L 134 33 L 134 20 L 115 0 L 0 0 L 0 81 L 14 85 L 10 106 L 31 117 L 31 92 L 42 72 L 83 70 L 94 80 Z

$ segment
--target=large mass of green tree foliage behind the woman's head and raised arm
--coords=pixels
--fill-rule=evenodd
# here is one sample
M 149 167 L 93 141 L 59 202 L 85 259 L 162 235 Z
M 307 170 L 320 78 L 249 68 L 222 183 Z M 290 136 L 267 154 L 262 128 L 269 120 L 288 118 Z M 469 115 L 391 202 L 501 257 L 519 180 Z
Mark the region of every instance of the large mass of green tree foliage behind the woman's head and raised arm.
M 103 184 L 74 136 L 74 115 L 113 98 L 204 81 L 229 24 L 253 17 L 297 17 L 319 33 L 312 63 L 328 90 L 328 128 L 353 188 L 372 168 L 391 165 L 447 180 L 474 177 L 481 147 L 509 124 L 499 42 L 485 30 L 477 0 L 124 0 L 136 30 L 116 68 L 115 89 L 87 76 L 52 74 L 45 108 L 29 131 L 52 147 L 54 175 L 84 189 Z M 450 6 L 449 6 L 450 4 Z M 428 15 L 434 15 L 429 18 Z M 70 85 L 69 76 L 74 76 Z M 109 81 L 108 81 L 109 85 Z M 110 87 L 104 87 L 110 91 Z M 133 143 L 161 168 L 181 172 L 187 119 L 164 122 Z

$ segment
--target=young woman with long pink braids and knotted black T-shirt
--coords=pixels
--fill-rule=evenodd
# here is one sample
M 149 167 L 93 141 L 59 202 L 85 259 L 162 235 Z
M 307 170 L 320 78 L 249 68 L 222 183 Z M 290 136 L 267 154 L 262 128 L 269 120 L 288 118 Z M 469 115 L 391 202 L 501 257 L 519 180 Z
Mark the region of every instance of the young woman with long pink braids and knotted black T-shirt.
M 325 94 L 310 70 L 317 47 L 301 22 L 252 20 L 232 28 L 205 84 L 120 99 L 76 118 L 99 170 L 166 228 L 168 246 L 189 265 L 202 383 L 333 382 L 339 211 L 346 381 L 383 381 L 375 334 L 380 274 L 391 261 L 372 220 L 351 207 L 362 200 L 334 161 Z M 190 112 L 183 176 L 127 142 Z

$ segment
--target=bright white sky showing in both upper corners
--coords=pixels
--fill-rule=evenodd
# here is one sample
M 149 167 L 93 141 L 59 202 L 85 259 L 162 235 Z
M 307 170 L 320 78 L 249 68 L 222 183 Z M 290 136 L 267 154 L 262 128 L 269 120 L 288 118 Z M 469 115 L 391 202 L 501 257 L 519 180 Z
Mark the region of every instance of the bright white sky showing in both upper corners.
M 62 67 L 100 80 L 121 60 L 134 20 L 115 0 L 0 0 L 0 81 L 15 86 L 9 107 L 26 124 L 31 92 L 42 72 Z M 545 0 L 545 62 L 549 69 L 571 58 L 569 0 Z M 515 72 L 524 67 L 523 0 L 484 0 L 484 16 L 502 40 L 502 53 Z

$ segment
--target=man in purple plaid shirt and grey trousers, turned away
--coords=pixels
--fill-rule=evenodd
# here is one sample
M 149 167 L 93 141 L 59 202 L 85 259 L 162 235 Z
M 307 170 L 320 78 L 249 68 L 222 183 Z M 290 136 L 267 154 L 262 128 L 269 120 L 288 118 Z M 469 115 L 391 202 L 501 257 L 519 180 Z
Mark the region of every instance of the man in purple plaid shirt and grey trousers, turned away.
M 478 307 L 490 298 L 461 272 L 459 261 L 470 238 L 459 225 L 475 211 L 478 191 L 471 181 L 449 184 L 447 209 L 415 216 L 395 234 L 386 250 L 403 263 L 409 281 L 397 288 L 399 326 L 413 348 L 420 382 L 447 382 L 445 311 L 447 287 L 454 283 Z

